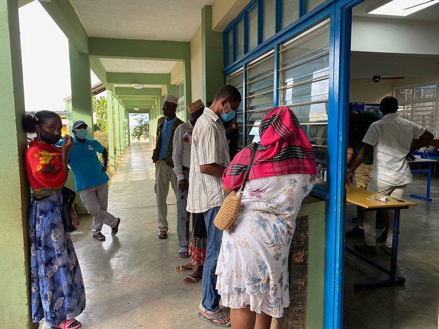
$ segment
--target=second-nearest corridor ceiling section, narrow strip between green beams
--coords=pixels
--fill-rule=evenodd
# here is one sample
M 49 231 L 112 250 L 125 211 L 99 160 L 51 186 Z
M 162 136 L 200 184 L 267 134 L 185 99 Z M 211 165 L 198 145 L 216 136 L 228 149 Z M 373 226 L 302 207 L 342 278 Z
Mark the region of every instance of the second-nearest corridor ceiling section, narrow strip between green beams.
M 100 58 L 107 72 L 119 73 L 171 73 L 177 64 L 173 60 Z

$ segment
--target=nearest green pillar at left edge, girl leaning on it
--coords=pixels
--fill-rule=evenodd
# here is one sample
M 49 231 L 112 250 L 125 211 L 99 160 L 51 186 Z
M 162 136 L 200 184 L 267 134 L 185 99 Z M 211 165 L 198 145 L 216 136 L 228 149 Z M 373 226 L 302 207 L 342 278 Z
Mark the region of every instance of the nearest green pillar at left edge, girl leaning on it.
M 0 327 L 37 328 L 30 315 L 27 148 L 17 0 L 0 0 Z

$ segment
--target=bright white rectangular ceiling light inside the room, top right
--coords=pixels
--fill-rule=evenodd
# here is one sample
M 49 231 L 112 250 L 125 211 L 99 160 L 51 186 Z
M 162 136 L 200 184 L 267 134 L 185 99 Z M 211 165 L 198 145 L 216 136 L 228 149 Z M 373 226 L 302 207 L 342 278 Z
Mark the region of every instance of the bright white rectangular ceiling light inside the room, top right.
M 407 16 L 436 3 L 439 3 L 439 0 L 392 0 L 378 8 L 377 6 L 373 6 L 366 9 L 366 13 L 374 15 Z

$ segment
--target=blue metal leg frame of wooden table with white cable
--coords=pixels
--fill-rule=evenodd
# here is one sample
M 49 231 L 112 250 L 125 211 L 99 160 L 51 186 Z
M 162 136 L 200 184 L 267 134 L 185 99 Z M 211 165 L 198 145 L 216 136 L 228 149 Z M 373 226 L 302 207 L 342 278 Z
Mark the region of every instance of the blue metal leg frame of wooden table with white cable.
M 373 263 L 369 259 L 366 260 L 364 256 L 360 257 L 361 259 L 365 260 L 367 263 L 371 264 L 375 268 L 388 274 L 390 276 L 390 279 L 383 280 L 383 281 L 356 283 L 356 284 L 354 284 L 355 290 L 363 290 L 363 289 L 367 289 L 367 288 L 389 287 L 389 286 L 403 285 L 405 283 L 404 277 L 402 277 L 402 276 L 397 277 L 396 276 L 397 260 L 398 260 L 399 213 L 400 213 L 400 209 L 395 209 L 395 220 L 393 223 L 392 257 L 390 260 L 390 273 L 389 273 L 389 271 L 383 269 L 381 266 Z M 351 252 L 348 249 L 347 249 L 347 251 Z M 351 252 L 351 253 L 356 254 L 356 252 Z M 358 255 L 358 254 L 356 254 L 356 255 Z

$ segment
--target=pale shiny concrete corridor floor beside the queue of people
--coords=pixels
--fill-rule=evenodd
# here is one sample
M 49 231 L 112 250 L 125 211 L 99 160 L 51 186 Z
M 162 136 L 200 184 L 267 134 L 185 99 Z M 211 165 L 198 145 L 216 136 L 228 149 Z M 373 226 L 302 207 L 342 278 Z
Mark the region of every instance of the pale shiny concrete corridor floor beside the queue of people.
M 109 211 L 121 218 L 118 235 L 104 226 L 106 241 L 93 239 L 90 215 L 72 233 L 86 287 L 87 306 L 78 317 L 83 328 L 211 327 L 197 316 L 201 281 L 185 285 L 190 272 L 174 270 L 189 259 L 178 256 L 175 196 L 168 197 L 168 238 L 159 240 L 153 186 L 149 144 L 131 144 L 110 185 Z

